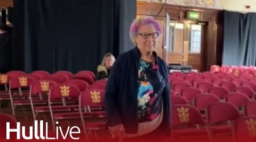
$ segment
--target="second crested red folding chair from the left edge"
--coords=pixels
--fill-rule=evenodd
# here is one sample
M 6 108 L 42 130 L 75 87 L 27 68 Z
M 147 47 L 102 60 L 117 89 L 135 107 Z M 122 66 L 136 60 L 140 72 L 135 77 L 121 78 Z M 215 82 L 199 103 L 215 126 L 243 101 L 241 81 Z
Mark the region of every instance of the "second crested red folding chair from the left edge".
M 19 76 L 19 77 L 11 77 L 9 83 L 9 95 L 11 100 L 11 108 L 13 110 L 13 115 L 15 116 L 15 107 L 20 105 L 26 105 L 23 102 L 20 102 L 24 99 L 28 99 L 28 94 L 23 94 L 22 89 L 28 89 L 31 83 L 35 81 L 34 78 L 29 76 Z M 19 89 L 19 97 L 14 95 L 12 90 Z

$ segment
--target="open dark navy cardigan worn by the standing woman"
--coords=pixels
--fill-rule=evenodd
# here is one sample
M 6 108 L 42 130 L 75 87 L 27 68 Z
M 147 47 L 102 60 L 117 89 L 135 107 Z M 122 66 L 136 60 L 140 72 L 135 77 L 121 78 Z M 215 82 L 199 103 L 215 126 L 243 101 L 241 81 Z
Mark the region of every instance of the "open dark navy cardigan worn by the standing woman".
M 168 69 L 166 63 L 156 57 L 156 64 L 162 74 L 166 87 L 163 90 L 163 120 L 160 130 L 164 135 L 170 135 L 170 83 L 168 82 Z M 137 93 L 138 70 L 141 52 L 138 47 L 119 55 L 109 74 L 105 90 L 105 108 L 110 127 L 123 124 L 126 133 L 137 133 Z

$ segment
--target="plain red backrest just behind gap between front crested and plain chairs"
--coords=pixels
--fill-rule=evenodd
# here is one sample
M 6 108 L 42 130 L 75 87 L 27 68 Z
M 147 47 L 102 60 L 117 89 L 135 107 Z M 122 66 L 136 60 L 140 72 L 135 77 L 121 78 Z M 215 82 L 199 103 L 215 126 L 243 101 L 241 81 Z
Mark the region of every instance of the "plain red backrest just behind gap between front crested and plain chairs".
M 193 106 L 199 110 L 205 110 L 212 103 L 220 102 L 220 99 L 214 94 L 198 94 L 193 99 Z

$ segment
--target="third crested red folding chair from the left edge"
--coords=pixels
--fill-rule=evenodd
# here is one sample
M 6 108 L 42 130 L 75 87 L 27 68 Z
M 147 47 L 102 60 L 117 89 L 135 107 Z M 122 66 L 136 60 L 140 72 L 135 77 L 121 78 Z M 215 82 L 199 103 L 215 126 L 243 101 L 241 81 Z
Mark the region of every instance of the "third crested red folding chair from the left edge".
M 34 120 L 36 120 L 39 112 L 49 112 L 49 109 L 46 110 L 44 107 L 48 107 L 48 93 L 53 85 L 57 85 L 57 83 L 49 80 L 40 80 L 31 83 L 29 98 Z

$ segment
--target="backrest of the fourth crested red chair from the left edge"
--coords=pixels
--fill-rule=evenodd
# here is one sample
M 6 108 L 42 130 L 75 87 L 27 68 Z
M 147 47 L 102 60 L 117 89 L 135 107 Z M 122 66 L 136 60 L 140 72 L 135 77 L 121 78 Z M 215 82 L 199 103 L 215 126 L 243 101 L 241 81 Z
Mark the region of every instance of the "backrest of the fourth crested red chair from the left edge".
M 72 84 L 53 85 L 49 91 L 49 101 L 60 98 L 79 98 L 80 90 Z

